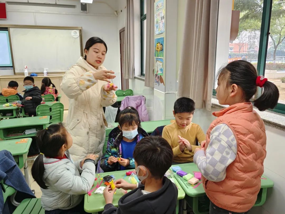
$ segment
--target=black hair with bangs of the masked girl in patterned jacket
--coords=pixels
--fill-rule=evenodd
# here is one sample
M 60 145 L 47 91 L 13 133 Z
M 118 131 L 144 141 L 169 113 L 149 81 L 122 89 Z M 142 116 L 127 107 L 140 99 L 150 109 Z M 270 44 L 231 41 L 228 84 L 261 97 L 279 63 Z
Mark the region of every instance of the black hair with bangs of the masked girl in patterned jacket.
M 138 127 L 141 127 L 141 120 L 139 116 L 139 112 L 134 107 L 127 107 L 123 111 L 119 113 L 118 116 L 118 122 L 121 128 L 123 125 L 126 126 L 133 126 L 137 125 Z

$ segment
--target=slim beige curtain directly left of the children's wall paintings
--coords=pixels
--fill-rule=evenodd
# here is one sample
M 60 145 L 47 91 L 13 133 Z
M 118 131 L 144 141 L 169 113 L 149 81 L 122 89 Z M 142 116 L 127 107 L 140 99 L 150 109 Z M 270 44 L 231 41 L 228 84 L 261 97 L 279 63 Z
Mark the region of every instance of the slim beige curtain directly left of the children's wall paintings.
M 154 88 L 154 0 L 146 1 L 146 51 L 144 86 Z

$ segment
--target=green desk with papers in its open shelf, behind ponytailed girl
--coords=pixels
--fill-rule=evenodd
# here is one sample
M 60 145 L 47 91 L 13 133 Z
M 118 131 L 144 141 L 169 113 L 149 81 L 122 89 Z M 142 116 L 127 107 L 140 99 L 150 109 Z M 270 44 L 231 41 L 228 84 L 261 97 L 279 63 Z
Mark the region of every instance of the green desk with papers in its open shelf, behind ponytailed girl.
M 36 136 L 36 133 L 28 135 L 7 136 L 11 132 L 24 133 L 27 129 L 42 130 L 48 127 L 50 122 L 49 116 L 37 116 L 37 117 L 25 117 L 25 118 L 13 118 L 0 121 L 0 138 L 3 140 L 11 140 L 18 138 L 28 138 Z

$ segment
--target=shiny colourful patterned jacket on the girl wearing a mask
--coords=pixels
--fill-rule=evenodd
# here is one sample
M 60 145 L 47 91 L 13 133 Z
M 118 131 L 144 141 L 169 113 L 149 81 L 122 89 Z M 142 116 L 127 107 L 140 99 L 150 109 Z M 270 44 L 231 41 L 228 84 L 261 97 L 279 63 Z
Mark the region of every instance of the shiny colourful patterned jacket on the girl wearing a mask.
M 144 131 L 142 128 L 138 128 L 139 134 L 136 136 L 137 143 L 144 137 L 148 136 L 146 131 Z M 110 171 L 119 171 L 121 168 L 121 165 L 117 163 L 113 163 L 112 165 L 109 165 L 107 163 L 108 158 L 110 156 L 114 156 L 115 158 L 119 158 L 122 156 L 122 151 L 120 150 L 120 144 L 121 140 L 123 139 L 123 132 L 118 128 L 114 128 L 108 138 L 108 144 L 105 154 L 102 156 L 100 161 L 100 167 L 103 169 L 104 172 L 110 172 Z M 127 158 L 130 161 L 130 165 L 127 166 L 127 169 L 135 169 L 135 160 L 133 158 Z

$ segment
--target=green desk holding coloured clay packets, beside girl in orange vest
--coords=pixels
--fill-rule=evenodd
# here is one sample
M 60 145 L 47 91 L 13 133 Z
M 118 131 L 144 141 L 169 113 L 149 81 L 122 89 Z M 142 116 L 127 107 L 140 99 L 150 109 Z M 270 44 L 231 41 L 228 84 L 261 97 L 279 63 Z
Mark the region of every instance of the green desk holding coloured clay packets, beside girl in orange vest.
M 185 171 L 187 173 L 193 174 L 194 171 L 199 171 L 197 165 L 195 163 L 184 163 L 174 166 L 180 166 L 182 171 Z M 206 196 L 206 193 L 204 191 L 202 183 L 195 189 L 182 177 L 175 174 L 174 177 L 176 180 L 180 183 L 182 188 L 184 189 L 186 193 L 186 201 L 192 207 L 193 212 L 195 214 L 206 214 L 209 213 L 209 199 Z M 265 176 L 262 176 L 263 178 L 266 178 Z M 267 188 L 273 187 L 274 183 L 272 180 L 266 178 L 261 179 L 261 188 L 257 196 L 257 201 L 255 202 L 254 206 L 261 206 L 264 204 L 266 200 L 266 193 Z

